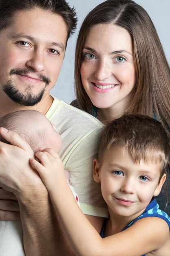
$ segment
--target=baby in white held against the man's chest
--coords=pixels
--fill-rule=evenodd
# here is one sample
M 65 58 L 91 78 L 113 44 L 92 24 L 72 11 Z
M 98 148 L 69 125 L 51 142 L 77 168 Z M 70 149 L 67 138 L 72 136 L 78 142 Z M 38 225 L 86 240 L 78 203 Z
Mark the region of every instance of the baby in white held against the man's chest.
M 53 148 L 57 153 L 62 147 L 62 139 L 50 121 L 35 110 L 21 110 L 9 113 L 0 118 L 0 127 L 17 132 L 32 148 L 33 152 L 44 148 Z M 0 137 L 1 141 L 5 141 Z M 70 175 L 65 171 L 69 182 Z M 31 185 L 31 184 L 30 184 Z M 73 186 L 71 190 L 78 202 Z M 31 186 L 30 186 L 31 188 Z M 0 221 L 0 256 L 23 256 L 22 225 L 20 221 Z

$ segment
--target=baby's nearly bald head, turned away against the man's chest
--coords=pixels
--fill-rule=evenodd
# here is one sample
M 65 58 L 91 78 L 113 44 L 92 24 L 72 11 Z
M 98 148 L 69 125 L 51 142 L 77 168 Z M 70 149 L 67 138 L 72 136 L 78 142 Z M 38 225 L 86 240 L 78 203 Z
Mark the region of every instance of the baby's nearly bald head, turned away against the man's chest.
M 35 110 L 11 112 L 0 118 L 0 127 L 17 132 L 34 152 L 53 148 L 59 153 L 62 147 L 61 137 L 55 127 L 45 115 Z M 3 138 L 0 140 L 4 141 Z

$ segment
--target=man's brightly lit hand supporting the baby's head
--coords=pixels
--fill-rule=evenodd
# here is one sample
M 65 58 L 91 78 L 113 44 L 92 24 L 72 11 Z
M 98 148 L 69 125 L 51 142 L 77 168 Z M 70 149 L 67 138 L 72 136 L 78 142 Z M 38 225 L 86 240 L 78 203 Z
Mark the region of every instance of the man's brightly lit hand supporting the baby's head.
M 0 141 L 0 186 L 18 198 L 22 191 L 29 190 L 29 184 L 42 183 L 29 164 L 34 153 L 16 132 L 0 128 L 0 135 L 11 144 Z

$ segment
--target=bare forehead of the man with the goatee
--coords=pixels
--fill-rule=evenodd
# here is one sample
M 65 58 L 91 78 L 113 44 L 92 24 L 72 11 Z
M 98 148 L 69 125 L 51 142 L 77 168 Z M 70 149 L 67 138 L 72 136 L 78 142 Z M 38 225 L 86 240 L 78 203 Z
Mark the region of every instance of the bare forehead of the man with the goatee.
M 46 43 L 61 48 L 64 46 L 65 49 L 67 27 L 62 16 L 57 13 L 40 8 L 17 11 L 13 16 L 13 22 L 7 29 L 13 38 L 25 36 L 31 40 L 38 40 L 44 37 L 43 41 Z M 64 45 L 59 45 L 63 42 Z

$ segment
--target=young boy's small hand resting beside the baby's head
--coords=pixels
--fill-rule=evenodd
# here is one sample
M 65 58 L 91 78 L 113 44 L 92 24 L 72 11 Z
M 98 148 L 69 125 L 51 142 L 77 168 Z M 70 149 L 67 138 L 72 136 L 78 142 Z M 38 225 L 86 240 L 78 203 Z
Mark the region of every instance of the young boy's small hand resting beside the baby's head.
M 45 148 L 35 153 L 40 162 L 31 158 L 31 166 L 38 171 L 48 191 L 56 188 L 57 182 L 66 180 L 62 160 L 52 148 Z

